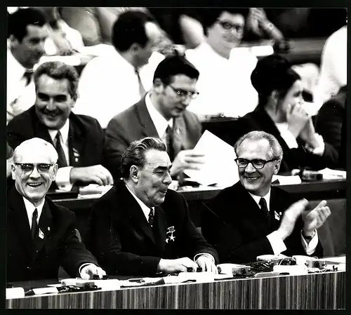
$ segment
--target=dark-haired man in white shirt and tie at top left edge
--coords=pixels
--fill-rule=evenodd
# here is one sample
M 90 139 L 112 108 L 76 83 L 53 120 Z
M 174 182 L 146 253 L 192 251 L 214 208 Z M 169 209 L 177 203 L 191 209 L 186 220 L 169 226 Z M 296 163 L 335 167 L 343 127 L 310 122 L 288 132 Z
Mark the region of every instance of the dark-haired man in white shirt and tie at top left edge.
M 44 55 L 48 37 L 46 18 L 34 8 L 8 15 L 6 121 L 25 112 L 35 100 L 33 67 Z

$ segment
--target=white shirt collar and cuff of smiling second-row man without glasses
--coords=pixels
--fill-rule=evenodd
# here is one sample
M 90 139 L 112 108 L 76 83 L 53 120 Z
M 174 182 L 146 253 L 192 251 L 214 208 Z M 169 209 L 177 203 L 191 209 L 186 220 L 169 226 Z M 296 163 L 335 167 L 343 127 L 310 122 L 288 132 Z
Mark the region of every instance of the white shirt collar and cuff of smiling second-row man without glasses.
M 48 130 L 48 133 L 53 141 L 53 144 L 56 145 L 56 135 L 58 134 L 59 130 Z M 69 119 L 65 122 L 65 125 L 62 126 L 60 129 L 61 133 L 61 146 L 63 152 L 65 153 L 65 158 L 67 162 L 67 166 L 64 168 L 59 168 L 58 173 L 56 174 L 55 183 L 58 185 L 59 189 L 62 190 L 71 190 L 72 183 L 69 181 L 69 173 L 72 170 L 72 166 L 69 166 L 69 146 L 68 146 L 68 133 L 69 133 Z

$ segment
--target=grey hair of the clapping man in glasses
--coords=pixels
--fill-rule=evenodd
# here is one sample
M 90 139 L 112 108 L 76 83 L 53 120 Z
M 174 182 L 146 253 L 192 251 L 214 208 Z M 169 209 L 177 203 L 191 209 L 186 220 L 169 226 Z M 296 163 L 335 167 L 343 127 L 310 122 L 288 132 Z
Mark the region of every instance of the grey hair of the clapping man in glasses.
M 246 133 L 246 135 L 243 135 L 241 138 L 239 138 L 239 140 L 237 140 L 237 142 L 235 142 L 234 145 L 235 154 L 238 154 L 237 150 L 239 149 L 241 143 L 244 142 L 244 140 L 260 141 L 263 139 L 267 140 L 270 144 L 270 159 L 279 159 L 279 161 L 282 161 L 282 146 L 279 144 L 277 138 L 275 138 L 274 135 L 271 135 L 270 133 L 265 133 L 265 131 L 254 130 L 250 133 Z

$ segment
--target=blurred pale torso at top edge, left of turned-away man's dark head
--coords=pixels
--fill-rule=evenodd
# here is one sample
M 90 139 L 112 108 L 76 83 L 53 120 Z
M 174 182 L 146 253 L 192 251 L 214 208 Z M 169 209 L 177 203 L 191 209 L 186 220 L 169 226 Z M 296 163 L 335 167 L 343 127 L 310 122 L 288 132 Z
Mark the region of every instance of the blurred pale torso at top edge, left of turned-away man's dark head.
M 86 46 L 112 43 L 112 26 L 121 13 L 129 10 L 147 12 L 138 7 L 65 6 L 59 8 L 60 15 L 70 27 L 77 29 Z

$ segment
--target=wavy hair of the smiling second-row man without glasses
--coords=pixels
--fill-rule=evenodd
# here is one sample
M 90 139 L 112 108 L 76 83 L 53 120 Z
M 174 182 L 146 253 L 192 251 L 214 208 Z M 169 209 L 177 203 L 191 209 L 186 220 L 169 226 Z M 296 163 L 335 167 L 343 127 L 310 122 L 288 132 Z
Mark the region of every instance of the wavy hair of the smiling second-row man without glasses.
M 77 98 L 79 75 L 73 66 L 60 61 L 48 61 L 41 64 L 34 72 L 34 84 L 38 85 L 40 76 L 46 74 L 55 80 L 67 79 L 69 81 L 68 92 L 72 98 Z

